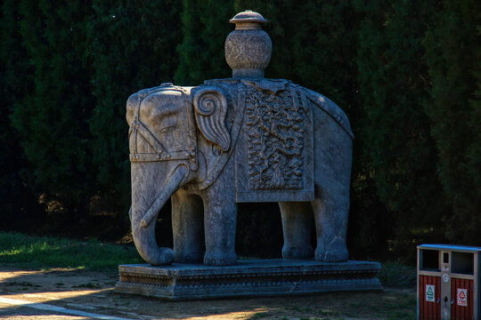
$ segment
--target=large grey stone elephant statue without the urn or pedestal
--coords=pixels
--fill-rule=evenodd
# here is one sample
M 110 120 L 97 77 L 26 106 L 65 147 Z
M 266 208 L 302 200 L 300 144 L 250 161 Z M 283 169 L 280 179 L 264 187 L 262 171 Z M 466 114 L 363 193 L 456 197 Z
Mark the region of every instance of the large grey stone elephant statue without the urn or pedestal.
M 234 264 L 237 203 L 265 201 L 279 202 L 284 258 L 347 260 L 354 136 L 321 94 L 264 78 L 161 84 L 130 96 L 126 120 L 132 233 L 147 262 Z M 169 197 L 173 250 L 155 239 Z

